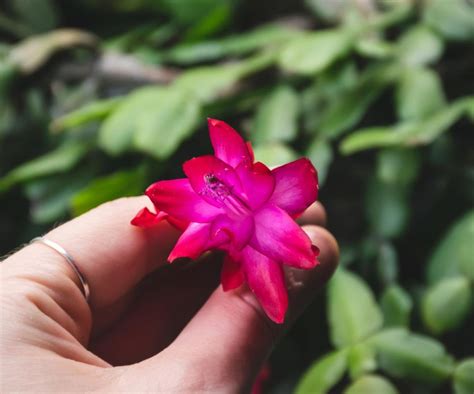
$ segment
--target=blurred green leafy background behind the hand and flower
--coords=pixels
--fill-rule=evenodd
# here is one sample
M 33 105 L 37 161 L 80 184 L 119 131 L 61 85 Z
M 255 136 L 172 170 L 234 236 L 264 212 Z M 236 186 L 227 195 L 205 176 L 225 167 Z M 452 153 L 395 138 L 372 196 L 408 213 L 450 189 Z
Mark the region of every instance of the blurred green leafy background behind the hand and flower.
M 206 117 L 308 156 L 341 245 L 269 393 L 474 391 L 474 3 L 6 0 L 0 253 L 181 176 Z

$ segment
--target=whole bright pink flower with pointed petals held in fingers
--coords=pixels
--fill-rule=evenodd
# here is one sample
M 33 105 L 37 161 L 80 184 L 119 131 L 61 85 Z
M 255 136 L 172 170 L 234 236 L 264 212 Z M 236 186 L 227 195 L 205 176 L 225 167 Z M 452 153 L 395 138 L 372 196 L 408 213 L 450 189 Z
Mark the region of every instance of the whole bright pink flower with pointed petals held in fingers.
M 208 124 L 214 156 L 185 162 L 187 178 L 149 186 L 157 213 L 144 208 L 132 224 L 146 228 L 166 219 L 183 229 L 170 262 L 226 251 L 224 290 L 247 282 L 270 319 L 282 323 L 288 307 L 282 265 L 318 264 L 318 248 L 294 221 L 317 198 L 316 170 L 305 158 L 270 170 L 254 162 L 250 144 L 229 125 Z

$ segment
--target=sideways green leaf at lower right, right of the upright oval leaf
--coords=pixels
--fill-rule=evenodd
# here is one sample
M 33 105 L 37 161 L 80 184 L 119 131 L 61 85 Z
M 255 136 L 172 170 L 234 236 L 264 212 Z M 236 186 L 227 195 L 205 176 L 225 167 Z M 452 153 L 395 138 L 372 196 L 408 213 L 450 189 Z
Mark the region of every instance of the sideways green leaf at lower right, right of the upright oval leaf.
M 453 359 L 442 344 L 402 328 L 384 330 L 372 338 L 381 369 L 387 374 L 439 384 L 453 372 Z

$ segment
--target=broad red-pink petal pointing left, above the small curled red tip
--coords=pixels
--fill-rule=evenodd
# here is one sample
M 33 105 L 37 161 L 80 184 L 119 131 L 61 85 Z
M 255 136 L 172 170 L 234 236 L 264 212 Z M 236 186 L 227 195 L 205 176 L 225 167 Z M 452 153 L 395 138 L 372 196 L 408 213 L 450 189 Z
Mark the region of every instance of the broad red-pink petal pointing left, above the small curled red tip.
M 157 210 L 187 222 L 206 223 L 222 213 L 199 197 L 187 179 L 156 182 L 145 194 Z

